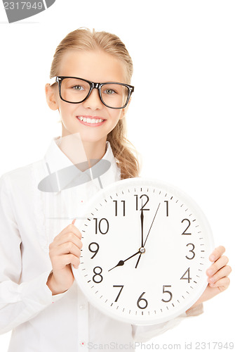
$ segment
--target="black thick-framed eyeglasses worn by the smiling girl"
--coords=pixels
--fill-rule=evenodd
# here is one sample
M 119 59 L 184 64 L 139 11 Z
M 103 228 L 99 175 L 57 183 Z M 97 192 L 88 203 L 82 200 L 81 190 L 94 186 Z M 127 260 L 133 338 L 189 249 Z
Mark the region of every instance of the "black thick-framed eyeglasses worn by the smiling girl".
M 119 82 L 95 83 L 79 77 L 56 76 L 51 78 L 50 85 L 58 82 L 60 99 L 67 103 L 82 103 L 92 90 L 98 89 L 100 100 L 107 108 L 121 109 L 128 104 L 134 87 Z

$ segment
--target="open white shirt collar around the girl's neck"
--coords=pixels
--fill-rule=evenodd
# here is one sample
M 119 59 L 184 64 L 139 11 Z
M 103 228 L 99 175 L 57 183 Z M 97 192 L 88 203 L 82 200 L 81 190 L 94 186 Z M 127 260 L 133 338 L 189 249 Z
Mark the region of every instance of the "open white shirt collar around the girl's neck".
M 60 139 L 61 137 L 52 139 L 43 158 L 48 176 L 39 183 L 41 191 L 58 193 L 62 189 L 76 187 L 90 181 L 95 181 L 100 188 L 104 188 L 120 180 L 120 169 L 116 164 L 109 142 L 106 142 L 106 153 L 102 159 L 92 168 L 81 172 L 59 148 Z

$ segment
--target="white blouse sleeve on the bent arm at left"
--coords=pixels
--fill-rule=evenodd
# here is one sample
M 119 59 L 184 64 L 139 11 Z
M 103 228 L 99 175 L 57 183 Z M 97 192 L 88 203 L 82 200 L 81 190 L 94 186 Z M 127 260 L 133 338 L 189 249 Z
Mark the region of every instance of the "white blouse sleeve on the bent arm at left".
M 51 268 L 30 282 L 20 283 L 22 239 L 14 217 L 10 184 L 5 175 L 0 178 L 0 334 L 34 318 L 66 294 L 52 296 L 46 285 Z

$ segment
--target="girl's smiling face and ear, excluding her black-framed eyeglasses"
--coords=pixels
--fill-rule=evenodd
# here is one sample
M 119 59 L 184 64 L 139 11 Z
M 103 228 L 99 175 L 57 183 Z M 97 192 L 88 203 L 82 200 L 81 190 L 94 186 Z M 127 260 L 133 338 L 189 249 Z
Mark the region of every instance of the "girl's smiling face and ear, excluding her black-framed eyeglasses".
M 62 57 L 58 75 L 79 77 L 92 82 L 126 83 L 125 65 L 114 56 L 103 51 L 67 51 Z M 58 84 L 46 86 L 48 105 L 60 111 L 62 137 L 79 132 L 83 142 L 105 143 L 107 134 L 123 118 L 125 109 L 107 108 L 100 100 L 98 89 L 93 89 L 82 103 L 62 101 Z M 104 120 L 98 123 L 84 123 L 79 117 Z

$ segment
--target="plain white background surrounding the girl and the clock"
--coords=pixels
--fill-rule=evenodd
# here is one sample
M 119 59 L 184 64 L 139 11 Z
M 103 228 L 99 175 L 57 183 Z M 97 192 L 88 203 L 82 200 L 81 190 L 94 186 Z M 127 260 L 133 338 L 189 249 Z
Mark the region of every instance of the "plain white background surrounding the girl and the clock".
M 229 0 L 56 0 L 47 11 L 8 24 L 1 4 L 0 175 L 41 159 L 60 134 L 59 115 L 44 96 L 60 40 L 78 27 L 113 32 L 133 58 L 128 137 L 142 154 L 142 176 L 192 196 L 233 267 L 234 18 Z M 203 315 L 151 343 L 181 344 L 184 350 L 185 341 L 193 341 L 192 348 L 196 341 L 210 343 L 210 349 L 213 341 L 233 341 L 231 281 L 204 304 Z M 10 336 L 0 336 L 1 352 Z

